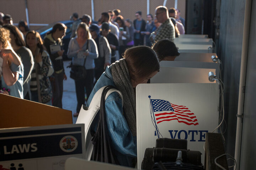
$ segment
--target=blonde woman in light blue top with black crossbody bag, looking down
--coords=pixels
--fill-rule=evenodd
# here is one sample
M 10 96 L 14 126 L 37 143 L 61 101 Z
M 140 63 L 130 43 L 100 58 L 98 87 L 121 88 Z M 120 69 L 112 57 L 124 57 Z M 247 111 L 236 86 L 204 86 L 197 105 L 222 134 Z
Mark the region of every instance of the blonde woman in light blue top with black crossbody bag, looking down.
M 68 58 L 72 58 L 72 64 L 83 66 L 85 61 L 85 69 L 87 72 L 84 80 L 75 80 L 76 113 L 73 116 L 78 116 L 82 104 L 85 104 L 85 89 L 86 96 L 89 97 L 94 86 L 94 59 L 98 58 L 98 49 L 95 41 L 91 37 L 89 27 L 86 23 L 81 22 L 76 28 L 76 37 L 72 38 L 68 47 Z M 88 49 L 87 49 L 88 44 Z M 84 52 L 82 58 L 78 58 L 79 51 Z

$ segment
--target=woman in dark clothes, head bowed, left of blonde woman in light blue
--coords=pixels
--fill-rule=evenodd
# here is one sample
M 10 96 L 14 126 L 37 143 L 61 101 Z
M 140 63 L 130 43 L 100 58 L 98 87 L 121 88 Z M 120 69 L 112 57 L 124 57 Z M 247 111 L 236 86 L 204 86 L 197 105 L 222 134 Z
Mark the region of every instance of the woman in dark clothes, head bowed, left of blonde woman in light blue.
M 54 73 L 51 77 L 53 91 L 52 104 L 55 107 L 62 108 L 63 80 L 66 80 L 66 74 L 63 67 L 63 44 L 62 38 L 66 33 L 66 26 L 63 23 L 56 23 L 52 30 L 44 37 L 44 46 L 53 63 Z

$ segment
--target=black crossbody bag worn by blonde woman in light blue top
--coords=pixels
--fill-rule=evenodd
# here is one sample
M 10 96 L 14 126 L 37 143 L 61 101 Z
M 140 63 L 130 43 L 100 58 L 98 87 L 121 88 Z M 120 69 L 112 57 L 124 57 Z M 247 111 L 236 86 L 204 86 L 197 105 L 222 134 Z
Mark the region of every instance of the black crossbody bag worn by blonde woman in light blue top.
M 88 50 L 88 45 L 89 45 L 89 41 L 87 40 L 86 50 Z M 86 58 L 84 60 L 83 66 L 73 65 L 71 63 L 71 65 L 69 66 L 71 67 L 71 70 L 70 70 L 71 79 L 74 79 L 75 81 L 79 81 L 79 80 L 84 80 L 86 78 L 87 71 L 85 68 L 85 62 L 86 62 Z

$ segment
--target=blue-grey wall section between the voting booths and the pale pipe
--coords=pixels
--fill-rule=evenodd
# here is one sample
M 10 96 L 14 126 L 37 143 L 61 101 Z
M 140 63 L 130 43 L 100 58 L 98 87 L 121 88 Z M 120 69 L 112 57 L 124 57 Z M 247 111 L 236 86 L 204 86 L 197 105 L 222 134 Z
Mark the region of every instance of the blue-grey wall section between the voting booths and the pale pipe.
M 245 0 L 225 0 L 220 5 L 220 34 L 217 55 L 223 62 L 225 121 L 222 125 L 227 153 L 234 156 L 236 114 L 241 66 Z

